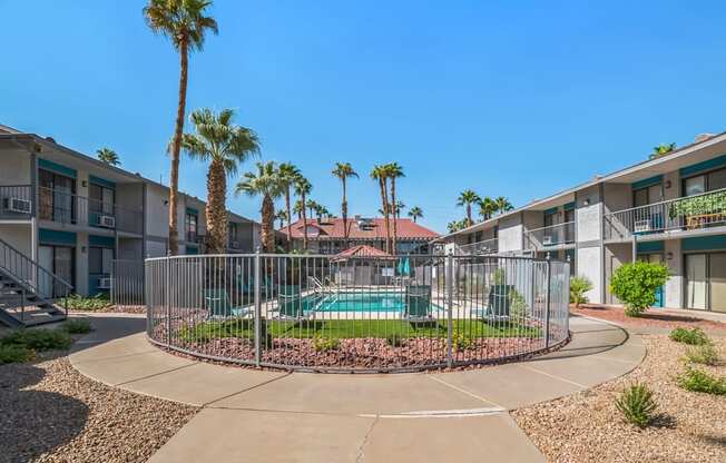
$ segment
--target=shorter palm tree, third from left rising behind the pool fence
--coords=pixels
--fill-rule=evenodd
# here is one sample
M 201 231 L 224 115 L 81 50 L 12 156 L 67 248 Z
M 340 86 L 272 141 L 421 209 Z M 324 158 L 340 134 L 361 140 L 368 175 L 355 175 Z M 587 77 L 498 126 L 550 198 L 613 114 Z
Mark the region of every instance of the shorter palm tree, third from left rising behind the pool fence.
M 257 162 L 256 173 L 246 173 L 237 184 L 236 193 L 262 196 L 262 245 L 265 253 L 275 252 L 275 199 L 283 195 L 283 181 L 277 165 L 269 160 Z

